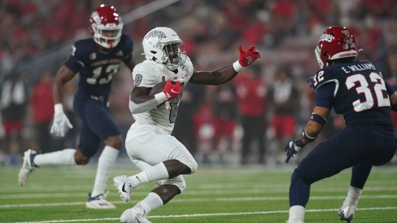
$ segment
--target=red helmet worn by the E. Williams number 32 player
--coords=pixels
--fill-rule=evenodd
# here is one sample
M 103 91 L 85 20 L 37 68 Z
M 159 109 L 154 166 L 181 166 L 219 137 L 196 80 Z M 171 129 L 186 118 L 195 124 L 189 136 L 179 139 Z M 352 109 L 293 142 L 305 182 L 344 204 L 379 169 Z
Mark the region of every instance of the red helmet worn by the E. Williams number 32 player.
M 314 52 L 320 68 L 324 68 L 332 60 L 356 57 L 356 38 L 346 27 L 329 27 L 321 34 Z

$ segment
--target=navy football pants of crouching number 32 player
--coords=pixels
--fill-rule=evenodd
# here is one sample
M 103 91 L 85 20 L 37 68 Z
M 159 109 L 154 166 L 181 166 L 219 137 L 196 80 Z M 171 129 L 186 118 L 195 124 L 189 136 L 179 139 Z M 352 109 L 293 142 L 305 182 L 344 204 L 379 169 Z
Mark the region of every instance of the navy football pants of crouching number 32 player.
M 394 156 L 397 137 L 392 127 L 349 126 L 318 144 L 291 176 L 290 206 L 306 206 L 310 185 L 352 168 L 351 185 L 362 189 L 372 166 L 380 166 Z

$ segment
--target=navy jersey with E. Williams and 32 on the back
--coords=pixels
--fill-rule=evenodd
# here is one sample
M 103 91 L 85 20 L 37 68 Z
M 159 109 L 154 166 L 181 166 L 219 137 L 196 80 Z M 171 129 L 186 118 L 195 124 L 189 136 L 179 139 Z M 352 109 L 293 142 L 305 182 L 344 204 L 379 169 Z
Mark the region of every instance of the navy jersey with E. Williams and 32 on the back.
M 343 114 L 347 126 L 392 126 L 386 83 L 374 63 L 353 61 L 325 67 L 317 71 L 313 85 L 316 106 L 329 107 L 329 102 L 335 113 Z

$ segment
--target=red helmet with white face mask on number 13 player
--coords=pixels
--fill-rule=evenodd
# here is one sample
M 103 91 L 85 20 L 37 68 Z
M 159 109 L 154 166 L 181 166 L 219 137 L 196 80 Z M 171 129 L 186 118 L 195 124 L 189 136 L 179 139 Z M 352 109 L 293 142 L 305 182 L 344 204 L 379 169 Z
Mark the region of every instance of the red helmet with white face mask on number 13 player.
M 94 41 L 108 49 L 115 47 L 121 39 L 123 23 L 116 8 L 100 5 L 90 18 Z

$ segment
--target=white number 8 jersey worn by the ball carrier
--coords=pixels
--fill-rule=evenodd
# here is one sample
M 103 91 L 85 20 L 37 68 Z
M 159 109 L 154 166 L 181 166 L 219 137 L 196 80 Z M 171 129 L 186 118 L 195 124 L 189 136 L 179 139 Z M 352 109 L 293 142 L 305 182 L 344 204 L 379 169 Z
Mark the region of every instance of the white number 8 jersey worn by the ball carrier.
M 183 90 L 192 74 L 193 65 L 187 56 L 185 63 L 178 66 L 177 73 L 170 71 L 166 66 L 153 60 L 145 60 L 144 62 L 136 65 L 133 70 L 133 79 L 136 86 L 153 87 L 157 83 L 171 79 L 172 81 L 179 80 L 182 84 L 182 89 L 180 95 L 171 99 L 169 104 L 164 102 L 145 113 L 133 114 L 135 123 L 137 125 L 156 126 L 157 128 L 171 134 L 174 129 L 180 98 L 182 97 Z M 131 126 L 131 129 L 133 128 L 134 125 Z

